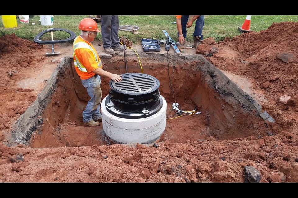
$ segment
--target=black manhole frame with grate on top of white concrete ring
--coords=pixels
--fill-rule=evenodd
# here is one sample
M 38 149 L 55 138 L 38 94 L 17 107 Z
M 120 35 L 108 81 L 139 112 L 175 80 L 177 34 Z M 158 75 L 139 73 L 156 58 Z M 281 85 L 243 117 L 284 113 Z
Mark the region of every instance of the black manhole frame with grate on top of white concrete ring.
M 140 81 L 138 81 L 140 80 Z M 137 82 L 138 81 L 138 82 Z M 149 82 L 152 81 L 152 82 Z M 140 86 L 154 84 L 146 91 L 142 91 Z M 136 87 L 137 92 L 125 92 L 117 87 L 121 84 Z M 110 80 L 109 95 L 106 98 L 105 106 L 108 112 L 120 118 L 146 118 L 156 114 L 163 106 L 160 97 L 160 82 L 154 76 L 142 73 L 125 73 L 122 74 L 122 81 L 115 82 Z

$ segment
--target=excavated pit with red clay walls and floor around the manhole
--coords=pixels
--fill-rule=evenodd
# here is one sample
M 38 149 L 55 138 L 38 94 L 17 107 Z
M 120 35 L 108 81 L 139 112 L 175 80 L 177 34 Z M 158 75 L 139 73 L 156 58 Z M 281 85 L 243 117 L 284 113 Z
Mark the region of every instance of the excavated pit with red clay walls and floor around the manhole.
M 202 56 L 142 54 L 142 67 L 135 56 L 102 57 L 104 69 L 111 73 L 141 73 L 160 82 L 160 95 L 167 102 L 166 128 L 159 141 L 185 143 L 209 136 L 216 140 L 266 136 L 267 122 L 274 122 L 246 92 Z M 128 72 L 126 72 L 126 70 Z M 174 72 L 173 72 L 174 71 Z M 109 93 L 108 78 L 102 78 L 102 98 Z M 8 146 L 30 147 L 92 146 L 113 144 L 102 125 L 82 123 L 82 111 L 89 100 L 76 74 L 72 57 L 65 57 L 36 101 L 14 124 Z M 180 110 L 200 114 L 175 118 Z M 174 119 L 173 119 L 174 118 Z

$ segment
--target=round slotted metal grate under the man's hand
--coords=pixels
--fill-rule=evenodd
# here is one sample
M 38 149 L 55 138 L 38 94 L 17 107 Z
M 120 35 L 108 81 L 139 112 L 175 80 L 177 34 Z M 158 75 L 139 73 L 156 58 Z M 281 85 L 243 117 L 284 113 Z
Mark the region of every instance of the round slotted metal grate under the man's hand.
M 126 94 L 143 94 L 152 92 L 159 87 L 159 81 L 146 74 L 128 73 L 122 75 L 121 82 L 113 81 L 112 88 Z

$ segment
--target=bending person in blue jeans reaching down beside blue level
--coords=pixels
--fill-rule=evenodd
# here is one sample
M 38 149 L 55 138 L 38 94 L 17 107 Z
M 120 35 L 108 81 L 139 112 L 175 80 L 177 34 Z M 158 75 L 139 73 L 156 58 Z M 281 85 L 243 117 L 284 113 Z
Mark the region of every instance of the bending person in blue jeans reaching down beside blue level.
M 192 27 L 194 21 L 196 21 L 195 31 L 193 32 L 193 46 L 197 48 L 201 44 L 203 39 L 203 27 L 204 27 L 204 15 L 194 15 L 190 18 L 189 15 L 175 15 L 176 16 L 176 26 L 177 26 L 177 36 L 178 41 L 177 46 L 184 45 L 186 42 L 186 28 Z

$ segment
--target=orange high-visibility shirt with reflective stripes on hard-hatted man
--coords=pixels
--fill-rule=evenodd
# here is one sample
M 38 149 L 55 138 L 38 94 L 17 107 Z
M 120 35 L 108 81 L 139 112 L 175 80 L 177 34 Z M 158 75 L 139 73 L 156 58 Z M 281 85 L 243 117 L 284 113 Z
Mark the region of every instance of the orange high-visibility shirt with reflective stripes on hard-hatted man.
M 75 38 L 73 43 L 75 70 L 82 80 L 95 75 L 97 68 L 102 69 L 102 61 L 97 55 L 91 43 L 85 41 L 81 36 Z

